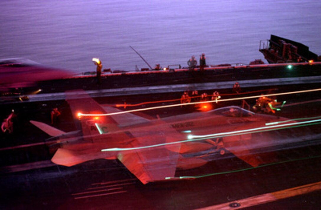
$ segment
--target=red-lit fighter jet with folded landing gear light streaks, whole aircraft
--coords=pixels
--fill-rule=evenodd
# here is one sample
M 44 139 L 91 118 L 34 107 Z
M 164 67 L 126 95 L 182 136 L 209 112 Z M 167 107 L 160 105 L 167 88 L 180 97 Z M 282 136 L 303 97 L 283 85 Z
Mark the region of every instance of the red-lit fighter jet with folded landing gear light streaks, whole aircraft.
M 66 100 L 80 130 L 65 133 L 30 121 L 53 136 L 47 142 L 59 146 L 52 162 L 73 166 L 118 159 L 143 184 L 175 177 L 177 169 L 202 166 L 208 162 L 206 156 L 213 154 L 233 154 L 256 167 L 264 163 L 253 152 L 256 149 L 302 140 L 286 135 L 275 140 L 274 130 L 314 123 L 256 114 L 238 106 L 149 119 L 101 106 L 83 93 L 66 93 Z

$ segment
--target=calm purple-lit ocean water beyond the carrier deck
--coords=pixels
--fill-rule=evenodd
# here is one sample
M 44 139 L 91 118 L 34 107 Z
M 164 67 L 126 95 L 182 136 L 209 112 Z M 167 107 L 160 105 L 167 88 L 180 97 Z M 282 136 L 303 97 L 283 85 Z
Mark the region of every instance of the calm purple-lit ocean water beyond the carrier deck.
M 264 60 L 259 41 L 270 34 L 321 54 L 320 0 L 0 1 L 0 58 L 24 57 L 73 72 L 134 71 L 151 65 L 187 66 Z M 264 60 L 265 61 L 265 60 Z M 266 62 L 266 61 L 265 61 Z

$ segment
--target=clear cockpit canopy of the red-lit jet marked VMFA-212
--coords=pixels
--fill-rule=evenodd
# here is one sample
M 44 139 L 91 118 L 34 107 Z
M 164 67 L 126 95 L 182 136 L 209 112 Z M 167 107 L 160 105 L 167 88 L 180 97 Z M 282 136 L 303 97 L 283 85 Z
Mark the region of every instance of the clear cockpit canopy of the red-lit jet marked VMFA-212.
M 255 114 L 238 106 L 226 106 L 215 110 L 211 110 L 209 111 L 209 113 L 225 117 L 251 117 Z

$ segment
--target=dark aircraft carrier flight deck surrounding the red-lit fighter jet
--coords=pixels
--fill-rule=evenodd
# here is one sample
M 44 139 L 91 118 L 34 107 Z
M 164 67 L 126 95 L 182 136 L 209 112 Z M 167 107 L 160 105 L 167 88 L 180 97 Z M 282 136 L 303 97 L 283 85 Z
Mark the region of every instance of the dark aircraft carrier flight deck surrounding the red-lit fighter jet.
M 282 145 L 262 155 L 273 164 L 251 167 L 231 153 L 204 166 L 178 170 L 176 180 L 143 185 L 117 160 L 95 160 L 72 167 L 53 164 L 45 143 L 49 136 L 30 120 L 50 124 L 50 112 L 61 111 L 54 127 L 76 130 L 65 91 L 84 89 L 102 106 L 121 110 L 174 105 L 143 111 L 142 116 L 164 118 L 198 112 L 194 105 L 181 107 L 186 90 L 211 95 L 220 92 L 213 108 L 228 105 L 251 109 L 261 94 L 286 101 L 276 116 L 311 119 L 321 115 L 321 63 L 281 63 L 214 66 L 205 71 L 122 72 L 42 81 L 20 89 L 20 96 L 0 98 L 0 118 L 13 109 L 17 114 L 12 134 L 0 134 L 1 209 L 319 209 L 321 206 L 321 128 L 304 128 L 306 141 Z M 241 92 L 232 92 L 239 82 Z M 30 94 L 42 89 L 38 94 Z M 19 97 L 27 96 L 28 100 Z M 238 100 L 234 100 L 238 98 Z M 269 113 L 272 114 L 272 113 Z M 286 139 L 295 133 L 280 131 Z M 271 155 L 272 154 L 272 155 Z

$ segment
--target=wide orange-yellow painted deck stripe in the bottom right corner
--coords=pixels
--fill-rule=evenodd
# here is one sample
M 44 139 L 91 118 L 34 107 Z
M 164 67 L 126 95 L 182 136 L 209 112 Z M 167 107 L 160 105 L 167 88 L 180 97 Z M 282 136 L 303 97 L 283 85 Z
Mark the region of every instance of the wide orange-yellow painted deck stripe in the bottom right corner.
M 231 201 L 228 203 L 218 204 L 215 206 L 208 206 L 205 208 L 199 208 L 198 210 L 211 210 L 211 209 L 220 209 L 220 210 L 231 210 L 231 209 L 242 209 L 250 206 L 256 206 L 260 204 L 265 204 L 268 202 L 273 202 L 277 200 L 281 200 L 284 198 L 294 197 L 298 195 L 307 194 L 316 190 L 321 190 L 321 181 L 302 185 L 299 187 L 294 187 L 290 189 L 284 189 L 272 193 L 266 193 L 263 195 L 257 195 L 253 197 L 248 197 L 241 200 Z M 230 204 L 232 203 L 238 203 L 239 207 L 231 207 Z

